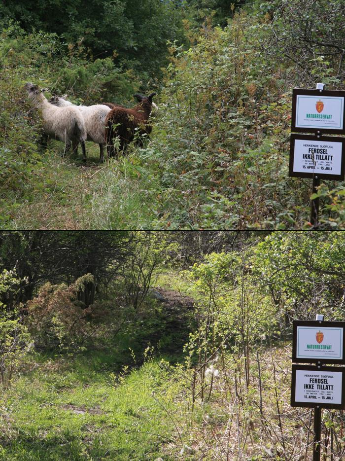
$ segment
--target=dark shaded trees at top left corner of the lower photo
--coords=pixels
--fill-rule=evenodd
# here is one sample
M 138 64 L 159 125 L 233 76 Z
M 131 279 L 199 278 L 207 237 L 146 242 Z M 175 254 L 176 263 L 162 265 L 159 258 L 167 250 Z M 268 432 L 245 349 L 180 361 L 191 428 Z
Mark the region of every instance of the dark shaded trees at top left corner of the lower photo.
M 79 295 L 89 306 L 95 291 L 106 287 L 119 273 L 133 238 L 134 234 L 126 231 L 2 232 L 0 267 L 16 268 L 18 276 L 27 280 L 9 305 L 26 303 L 44 282 L 70 285 L 92 274 L 94 282 L 86 284 Z

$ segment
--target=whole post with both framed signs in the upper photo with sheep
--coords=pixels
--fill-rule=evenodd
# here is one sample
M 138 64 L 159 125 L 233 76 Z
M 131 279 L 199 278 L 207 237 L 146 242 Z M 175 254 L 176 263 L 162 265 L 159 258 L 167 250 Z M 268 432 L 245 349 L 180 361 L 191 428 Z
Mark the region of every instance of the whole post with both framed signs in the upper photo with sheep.
M 345 135 L 345 91 L 326 91 L 324 86 L 317 83 L 316 90 L 292 91 L 291 131 L 313 136 L 291 135 L 289 176 L 311 177 L 313 194 L 320 179 L 345 177 L 345 139 L 323 136 Z M 311 224 L 319 226 L 318 197 L 311 200 Z

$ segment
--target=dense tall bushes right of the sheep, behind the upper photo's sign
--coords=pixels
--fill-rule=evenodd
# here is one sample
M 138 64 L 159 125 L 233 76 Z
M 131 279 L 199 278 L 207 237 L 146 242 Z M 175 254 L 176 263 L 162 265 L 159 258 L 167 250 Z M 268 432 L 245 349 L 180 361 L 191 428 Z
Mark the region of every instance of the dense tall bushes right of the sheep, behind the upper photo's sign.
M 343 87 L 341 6 L 262 3 L 189 50 L 172 44 L 156 133 L 140 153 L 160 172 L 155 226 L 310 228 L 310 181 L 288 177 L 291 89 Z M 321 221 L 342 226 L 344 183 L 330 193 L 335 183 L 322 182 L 319 195 L 334 200 Z

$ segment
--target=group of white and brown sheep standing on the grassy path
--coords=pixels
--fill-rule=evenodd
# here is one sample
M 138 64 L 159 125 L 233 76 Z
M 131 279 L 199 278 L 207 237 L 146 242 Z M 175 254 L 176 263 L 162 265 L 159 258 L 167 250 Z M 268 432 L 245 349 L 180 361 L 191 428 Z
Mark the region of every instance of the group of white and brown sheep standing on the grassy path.
M 150 96 L 134 95 L 138 104 L 131 109 L 111 103 L 93 106 L 76 106 L 64 97 L 53 96 L 49 101 L 37 85 L 26 83 L 25 89 L 34 107 L 40 109 L 43 118 L 45 140 L 55 137 L 65 143 L 64 155 L 72 147 L 78 152 L 80 143 L 83 159 L 86 159 L 85 141 L 100 145 L 100 162 L 104 161 L 104 145 L 108 157 L 117 158 L 114 138 L 119 139 L 119 150 L 124 151 L 138 133 L 137 142 L 142 145 L 142 135 L 147 137 L 152 131 L 149 124 L 151 114 L 158 110 L 152 102 L 156 93 Z

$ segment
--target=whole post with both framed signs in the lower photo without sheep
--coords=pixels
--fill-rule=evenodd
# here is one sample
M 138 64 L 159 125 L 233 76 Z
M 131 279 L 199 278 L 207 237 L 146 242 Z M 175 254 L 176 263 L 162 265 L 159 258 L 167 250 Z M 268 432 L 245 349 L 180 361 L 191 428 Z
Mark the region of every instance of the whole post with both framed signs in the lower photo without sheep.
M 345 408 L 345 322 L 293 321 L 291 406 L 314 408 L 313 461 L 320 461 L 322 408 Z

